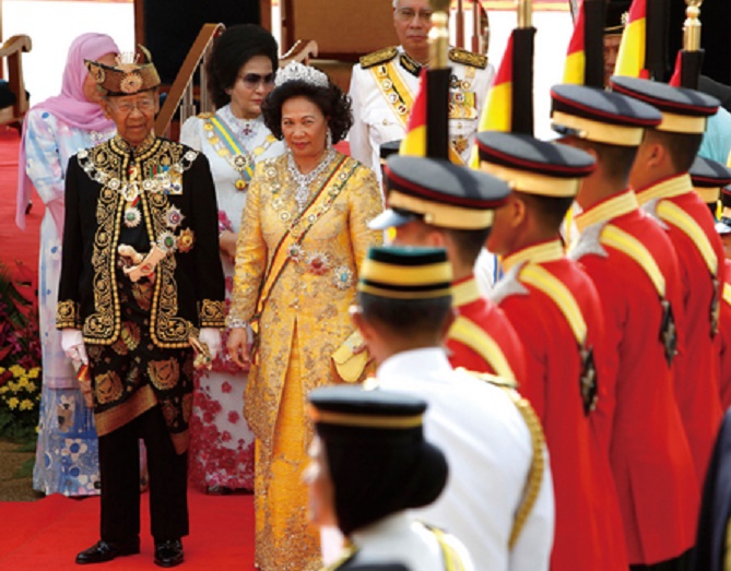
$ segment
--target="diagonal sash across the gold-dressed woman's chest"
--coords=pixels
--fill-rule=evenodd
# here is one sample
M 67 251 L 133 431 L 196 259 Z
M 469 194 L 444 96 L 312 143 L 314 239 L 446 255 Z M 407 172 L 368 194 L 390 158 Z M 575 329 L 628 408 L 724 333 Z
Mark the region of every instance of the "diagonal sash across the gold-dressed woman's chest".
M 325 180 L 325 182 L 322 182 L 322 186 L 315 193 L 313 200 L 309 202 L 309 204 L 307 204 L 302 214 L 299 214 L 299 216 L 290 225 L 290 228 L 284 233 L 284 236 L 282 236 L 282 239 L 276 245 L 276 248 L 274 249 L 274 254 L 272 255 L 272 262 L 271 264 L 269 264 L 267 274 L 261 281 L 261 287 L 259 288 L 259 296 L 257 298 L 257 310 L 250 321 L 251 330 L 255 333 L 259 333 L 259 319 L 261 318 L 261 312 L 263 311 L 264 306 L 267 305 L 269 295 L 271 294 L 274 284 L 282 275 L 282 272 L 290 263 L 291 248 L 302 243 L 302 241 L 304 240 L 305 236 L 310 230 L 310 228 L 315 225 L 315 223 L 318 219 L 320 219 L 320 216 L 322 216 L 322 214 L 325 214 L 325 212 L 327 212 L 330 209 L 330 204 L 332 204 L 332 202 L 340 195 L 340 192 L 342 191 L 343 187 L 345 186 L 347 180 L 350 180 L 351 176 L 357 168 L 357 163 L 353 160 L 350 163 L 351 164 L 350 173 L 344 174 L 344 176 L 342 177 L 335 177 L 338 173 L 340 173 L 340 170 L 343 169 L 343 166 L 347 162 L 347 158 L 349 157 L 343 156 L 340 159 L 340 162 L 332 169 L 332 171 Z M 328 186 L 330 186 L 330 182 L 333 179 L 339 180 L 339 186 L 335 187 L 330 192 L 326 193 L 325 189 L 327 189 Z M 323 194 L 326 194 L 326 197 L 322 201 L 320 201 L 319 199 Z M 306 225 L 304 226 L 302 231 L 294 231 L 298 230 L 299 229 L 298 227 L 302 224 Z

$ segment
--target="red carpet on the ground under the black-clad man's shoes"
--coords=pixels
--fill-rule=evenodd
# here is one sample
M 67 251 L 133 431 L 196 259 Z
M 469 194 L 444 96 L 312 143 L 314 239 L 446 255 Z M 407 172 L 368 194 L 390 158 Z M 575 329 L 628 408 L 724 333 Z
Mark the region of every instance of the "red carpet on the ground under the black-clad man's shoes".
M 252 496 L 188 492 L 190 535 L 184 538 L 184 571 L 250 571 L 254 567 Z M 142 496 L 140 555 L 104 569 L 156 569 L 150 536 L 149 495 Z M 98 539 L 99 500 L 54 495 L 36 502 L 0 503 L 0 569 L 79 571 L 78 551 Z

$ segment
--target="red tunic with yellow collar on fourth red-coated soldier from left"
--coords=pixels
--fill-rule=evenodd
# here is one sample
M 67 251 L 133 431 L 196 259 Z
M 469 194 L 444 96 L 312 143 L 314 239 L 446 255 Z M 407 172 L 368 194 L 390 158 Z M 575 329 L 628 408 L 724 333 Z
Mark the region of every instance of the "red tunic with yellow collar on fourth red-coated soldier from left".
M 718 344 L 712 333 L 711 306 L 714 299 L 720 301 L 722 294 L 723 246 L 708 206 L 693 191 L 689 175 L 664 179 L 635 192 L 642 210 L 668 230 L 680 262 L 685 342 L 674 361 L 675 395 L 696 476 L 703 483 L 721 425 Z M 683 219 L 687 222 L 680 222 Z M 699 249 L 704 242 L 705 257 Z M 716 274 L 716 284 L 711 273 Z

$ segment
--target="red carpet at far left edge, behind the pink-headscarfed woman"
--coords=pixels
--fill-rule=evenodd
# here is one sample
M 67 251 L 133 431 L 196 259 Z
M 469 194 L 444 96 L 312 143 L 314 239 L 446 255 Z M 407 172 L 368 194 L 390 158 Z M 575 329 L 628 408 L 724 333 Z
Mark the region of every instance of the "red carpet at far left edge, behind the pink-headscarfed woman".
M 40 221 L 45 209 L 35 195 L 31 214 L 25 219 L 25 231 L 15 226 L 19 146 L 17 131 L 0 127 L 0 262 L 14 269 L 19 261 L 35 274 L 38 271 Z

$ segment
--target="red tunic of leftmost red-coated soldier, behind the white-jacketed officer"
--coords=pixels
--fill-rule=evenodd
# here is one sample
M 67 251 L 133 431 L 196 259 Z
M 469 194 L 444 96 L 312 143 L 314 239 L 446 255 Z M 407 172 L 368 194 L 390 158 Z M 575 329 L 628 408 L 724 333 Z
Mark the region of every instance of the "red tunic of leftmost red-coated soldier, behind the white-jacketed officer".
M 507 376 L 522 382 L 526 378 L 526 356 L 520 338 L 503 310 L 494 301 L 482 297 L 474 276 L 452 284 L 452 305 L 462 318 L 484 332 L 485 337 L 480 338 L 465 330 L 464 341 L 460 341 L 460 332 L 453 325 L 447 335 L 451 366 Z

